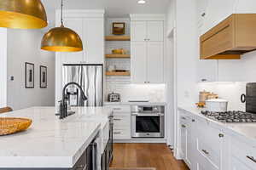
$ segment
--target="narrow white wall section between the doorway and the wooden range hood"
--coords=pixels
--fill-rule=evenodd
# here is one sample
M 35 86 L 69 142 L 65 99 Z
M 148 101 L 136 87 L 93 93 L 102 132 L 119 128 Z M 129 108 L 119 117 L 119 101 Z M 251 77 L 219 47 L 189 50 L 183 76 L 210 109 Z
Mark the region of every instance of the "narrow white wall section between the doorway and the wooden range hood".
M 197 19 L 195 0 L 177 0 L 177 105 L 191 105 L 196 93 Z

